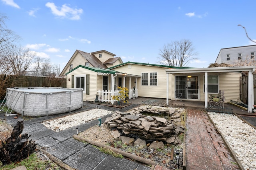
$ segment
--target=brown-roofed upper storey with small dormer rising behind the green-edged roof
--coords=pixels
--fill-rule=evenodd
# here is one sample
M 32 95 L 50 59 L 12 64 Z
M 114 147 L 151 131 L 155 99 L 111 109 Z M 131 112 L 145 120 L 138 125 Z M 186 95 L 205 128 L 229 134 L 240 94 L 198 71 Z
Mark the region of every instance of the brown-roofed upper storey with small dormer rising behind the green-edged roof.
M 120 57 L 106 50 L 96 51 L 92 53 L 86 53 L 84 51 L 76 50 L 72 55 L 62 72 L 60 77 L 64 76 L 67 72 L 76 68 L 79 65 L 98 67 L 98 68 L 108 68 L 118 64 L 122 64 L 123 61 Z

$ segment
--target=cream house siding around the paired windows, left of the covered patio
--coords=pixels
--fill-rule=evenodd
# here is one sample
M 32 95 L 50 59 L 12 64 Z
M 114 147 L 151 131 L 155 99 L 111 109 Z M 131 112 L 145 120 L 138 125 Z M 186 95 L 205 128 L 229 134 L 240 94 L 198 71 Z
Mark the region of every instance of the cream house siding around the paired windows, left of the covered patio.
M 141 73 L 148 73 L 148 86 L 141 85 L 141 78 L 137 78 L 138 96 L 151 97 L 151 98 L 166 98 L 166 68 L 157 66 L 145 66 L 138 64 L 127 64 L 114 68 L 113 70 L 126 72 L 128 74 L 134 74 L 141 76 Z M 150 72 L 157 72 L 157 86 L 150 86 Z M 135 86 L 135 78 L 131 80 L 131 89 Z M 169 77 L 169 85 L 170 85 Z M 126 87 L 129 88 L 129 77 L 126 77 Z M 169 97 L 171 93 L 169 94 Z

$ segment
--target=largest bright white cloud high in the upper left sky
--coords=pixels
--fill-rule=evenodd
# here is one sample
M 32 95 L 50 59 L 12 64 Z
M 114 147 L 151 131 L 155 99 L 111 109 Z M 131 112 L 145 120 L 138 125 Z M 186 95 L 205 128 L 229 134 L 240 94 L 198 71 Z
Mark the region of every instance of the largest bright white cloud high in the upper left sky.
M 62 7 L 57 7 L 53 2 L 47 2 L 46 7 L 51 8 L 52 14 L 59 16 L 61 18 L 68 18 L 70 20 L 80 20 L 80 15 L 83 13 L 83 10 L 70 8 L 68 4 L 62 5 Z

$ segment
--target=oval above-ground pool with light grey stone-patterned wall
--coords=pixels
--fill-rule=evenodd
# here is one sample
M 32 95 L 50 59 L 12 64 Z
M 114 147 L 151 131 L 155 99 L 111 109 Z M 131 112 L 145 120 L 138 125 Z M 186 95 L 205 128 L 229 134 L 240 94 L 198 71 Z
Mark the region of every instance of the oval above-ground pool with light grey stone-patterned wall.
M 83 107 L 82 88 L 7 88 L 6 106 L 22 116 L 45 116 Z

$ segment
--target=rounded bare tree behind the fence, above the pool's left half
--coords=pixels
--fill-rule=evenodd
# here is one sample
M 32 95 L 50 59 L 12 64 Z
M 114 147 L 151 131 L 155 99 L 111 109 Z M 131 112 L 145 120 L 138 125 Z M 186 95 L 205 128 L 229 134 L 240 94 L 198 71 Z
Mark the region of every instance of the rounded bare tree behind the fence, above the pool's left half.
M 36 53 L 22 46 L 17 47 L 16 45 L 11 45 L 4 49 L 4 55 L 11 68 L 10 73 L 14 75 L 22 75 L 32 64 Z

